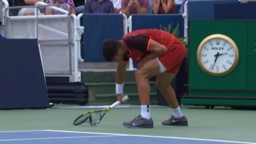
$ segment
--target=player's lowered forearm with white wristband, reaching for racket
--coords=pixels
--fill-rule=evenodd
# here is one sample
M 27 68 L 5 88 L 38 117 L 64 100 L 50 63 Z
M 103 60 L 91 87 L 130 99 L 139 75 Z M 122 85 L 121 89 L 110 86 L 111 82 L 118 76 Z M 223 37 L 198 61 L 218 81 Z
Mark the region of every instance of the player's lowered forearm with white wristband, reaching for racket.
M 125 81 L 126 67 L 127 67 L 127 62 L 121 60 L 117 65 L 117 71 L 116 71 L 116 94 L 117 94 L 117 99 L 121 102 L 124 102 L 121 99 L 124 96 L 123 82 Z

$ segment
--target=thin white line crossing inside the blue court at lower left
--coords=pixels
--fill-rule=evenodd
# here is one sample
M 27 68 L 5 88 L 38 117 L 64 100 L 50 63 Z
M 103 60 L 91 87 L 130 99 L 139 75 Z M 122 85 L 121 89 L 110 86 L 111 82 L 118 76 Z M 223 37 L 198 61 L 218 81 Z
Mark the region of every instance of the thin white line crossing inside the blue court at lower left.
M 27 140 L 41 140 L 41 139 L 77 139 L 89 137 L 116 137 L 117 135 L 93 135 L 93 136 L 79 136 L 79 137 L 45 137 L 45 138 L 31 138 L 31 139 L 0 139 L 0 141 L 27 141 Z

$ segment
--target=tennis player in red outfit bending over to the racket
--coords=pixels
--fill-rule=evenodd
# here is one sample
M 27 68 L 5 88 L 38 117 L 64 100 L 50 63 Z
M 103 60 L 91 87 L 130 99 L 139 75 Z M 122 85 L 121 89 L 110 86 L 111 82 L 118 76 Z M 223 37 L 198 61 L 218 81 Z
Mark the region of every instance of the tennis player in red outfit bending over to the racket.
M 135 72 L 139 92 L 140 115 L 129 122 L 123 122 L 128 128 L 153 128 L 150 117 L 150 82 L 156 75 L 156 87 L 173 108 L 171 117 L 163 125 L 187 126 L 188 120 L 182 115 L 171 81 L 179 71 L 186 55 L 184 45 L 176 37 L 158 29 L 139 29 L 123 35 L 120 41 L 108 39 L 102 45 L 102 54 L 106 61 L 119 61 L 116 73 L 117 99 L 123 98 L 123 86 L 129 58 L 137 62 Z

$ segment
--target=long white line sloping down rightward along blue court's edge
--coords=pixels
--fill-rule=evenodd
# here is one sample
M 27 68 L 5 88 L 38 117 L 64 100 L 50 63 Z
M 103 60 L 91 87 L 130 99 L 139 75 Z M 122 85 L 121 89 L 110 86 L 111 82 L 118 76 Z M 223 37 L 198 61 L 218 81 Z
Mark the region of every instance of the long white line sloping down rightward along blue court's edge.
M 166 139 L 186 139 L 186 140 L 196 140 L 196 141 L 216 141 L 225 143 L 244 143 L 244 144 L 255 144 L 251 142 L 244 141 L 225 141 L 217 139 L 198 139 L 198 138 L 187 138 L 187 137 L 164 137 L 164 136 L 154 136 L 154 135 L 130 135 L 130 134 L 112 134 L 112 133 L 96 133 L 96 132 L 75 132 L 75 131 L 63 131 L 63 130 L 44 130 L 47 132 L 67 132 L 67 133 L 78 133 L 78 134 L 100 134 L 100 135 L 119 135 L 119 136 L 135 136 L 135 137 L 156 137 L 156 138 L 166 138 Z

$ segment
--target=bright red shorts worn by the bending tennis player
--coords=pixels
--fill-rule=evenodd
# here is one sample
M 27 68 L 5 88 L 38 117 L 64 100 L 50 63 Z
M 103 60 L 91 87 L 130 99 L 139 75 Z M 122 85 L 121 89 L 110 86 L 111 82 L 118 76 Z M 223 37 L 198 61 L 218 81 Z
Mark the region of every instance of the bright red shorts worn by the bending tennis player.
M 158 60 L 163 64 L 169 73 L 178 73 L 182 61 L 186 56 L 186 48 L 181 41 L 175 39 L 169 46 L 168 52 L 160 56 Z

